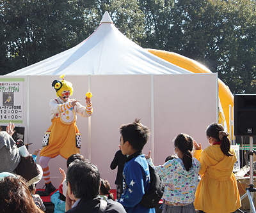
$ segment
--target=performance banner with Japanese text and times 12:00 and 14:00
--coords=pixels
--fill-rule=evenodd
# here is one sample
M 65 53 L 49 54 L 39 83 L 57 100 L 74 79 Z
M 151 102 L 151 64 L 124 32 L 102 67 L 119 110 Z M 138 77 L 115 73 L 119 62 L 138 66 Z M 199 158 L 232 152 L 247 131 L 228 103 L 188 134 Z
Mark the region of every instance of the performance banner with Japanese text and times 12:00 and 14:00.
M 0 78 L 0 123 L 23 122 L 24 78 Z

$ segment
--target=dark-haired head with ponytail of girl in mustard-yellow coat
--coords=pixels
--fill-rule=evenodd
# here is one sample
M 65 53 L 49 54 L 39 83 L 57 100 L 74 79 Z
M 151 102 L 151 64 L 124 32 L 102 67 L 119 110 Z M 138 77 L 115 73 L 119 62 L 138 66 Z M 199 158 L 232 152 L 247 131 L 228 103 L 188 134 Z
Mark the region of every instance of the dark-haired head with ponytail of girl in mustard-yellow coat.
M 206 129 L 206 136 L 208 140 L 213 142 L 221 142 L 220 149 L 226 156 L 232 156 L 230 153 L 230 140 L 228 139 L 228 132 L 224 131 L 221 124 L 212 123 Z

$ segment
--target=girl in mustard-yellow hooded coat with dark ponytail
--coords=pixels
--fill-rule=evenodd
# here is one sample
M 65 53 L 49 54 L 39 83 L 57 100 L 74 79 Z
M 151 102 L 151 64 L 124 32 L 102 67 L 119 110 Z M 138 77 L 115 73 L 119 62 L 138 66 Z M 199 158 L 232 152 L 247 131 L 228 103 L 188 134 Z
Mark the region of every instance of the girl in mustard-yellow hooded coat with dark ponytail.
M 202 151 L 194 141 L 194 157 L 201 163 L 202 175 L 196 189 L 195 209 L 207 213 L 230 213 L 241 207 L 233 168 L 236 152 L 230 149 L 228 133 L 221 124 L 212 123 L 206 130 L 209 147 Z

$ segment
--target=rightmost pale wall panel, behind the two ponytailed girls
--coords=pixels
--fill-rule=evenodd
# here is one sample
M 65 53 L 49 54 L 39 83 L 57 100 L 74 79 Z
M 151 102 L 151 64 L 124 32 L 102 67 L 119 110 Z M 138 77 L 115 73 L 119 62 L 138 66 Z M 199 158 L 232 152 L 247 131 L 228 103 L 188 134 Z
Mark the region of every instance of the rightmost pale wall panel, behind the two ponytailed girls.
M 192 136 L 202 147 L 209 145 L 205 129 L 217 119 L 216 74 L 154 76 L 155 165 L 174 154 L 173 138 Z

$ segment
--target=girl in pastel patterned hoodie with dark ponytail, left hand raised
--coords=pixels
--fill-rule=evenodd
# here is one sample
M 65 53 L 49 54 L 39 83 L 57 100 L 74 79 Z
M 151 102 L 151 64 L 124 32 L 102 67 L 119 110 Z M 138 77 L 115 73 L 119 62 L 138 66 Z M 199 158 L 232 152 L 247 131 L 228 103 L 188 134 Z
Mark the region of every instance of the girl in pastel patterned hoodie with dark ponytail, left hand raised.
M 165 184 L 163 213 L 195 213 L 194 200 L 198 184 L 200 163 L 192 157 L 193 138 L 179 134 L 173 140 L 174 152 L 178 158 L 173 158 L 164 165 L 154 166 L 150 152 L 145 155 L 148 164 L 155 168 Z

